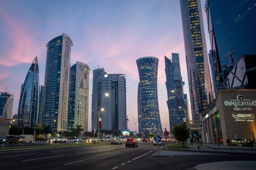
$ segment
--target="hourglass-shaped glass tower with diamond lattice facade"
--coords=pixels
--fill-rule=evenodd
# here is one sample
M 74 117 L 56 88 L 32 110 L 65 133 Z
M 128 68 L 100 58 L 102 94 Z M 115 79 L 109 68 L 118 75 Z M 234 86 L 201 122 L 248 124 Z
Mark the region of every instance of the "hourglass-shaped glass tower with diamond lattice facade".
M 149 133 L 162 134 L 162 125 L 158 107 L 157 71 L 158 58 L 142 57 L 136 60 L 139 71 L 138 110 L 139 133 L 148 136 Z

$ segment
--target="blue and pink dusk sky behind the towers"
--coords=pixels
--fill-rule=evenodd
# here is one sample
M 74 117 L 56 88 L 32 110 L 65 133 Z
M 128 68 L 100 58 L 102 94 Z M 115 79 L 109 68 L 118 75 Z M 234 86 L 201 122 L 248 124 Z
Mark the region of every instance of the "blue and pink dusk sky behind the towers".
M 204 3 L 202 0 L 202 7 Z M 204 10 L 203 19 L 209 51 Z M 171 59 L 172 53 L 179 53 L 184 93 L 189 99 L 179 0 L 1 0 L 0 23 L 0 92 L 14 94 L 12 115 L 18 112 L 21 84 L 35 56 L 40 85 L 44 85 L 46 44 L 62 33 L 73 42 L 71 66 L 79 61 L 91 69 L 89 96 L 94 69 L 125 74 L 129 130 L 135 131 L 138 120 L 137 59 L 159 59 L 158 100 L 163 130 L 170 130 L 164 56 Z M 91 102 L 90 98 L 88 130 Z

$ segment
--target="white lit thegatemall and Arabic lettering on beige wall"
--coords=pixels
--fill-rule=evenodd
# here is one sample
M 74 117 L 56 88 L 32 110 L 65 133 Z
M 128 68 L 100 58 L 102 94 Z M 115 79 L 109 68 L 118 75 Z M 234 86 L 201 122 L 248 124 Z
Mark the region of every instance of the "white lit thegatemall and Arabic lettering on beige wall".
M 235 121 L 241 121 L 241 122 L 254 121 L 253 113 L 245 113 L 245 112 L 241 113 L 241 112 L 245 110 L 251 112 L 252 107 L 256 106 L 256 100 L 244 99 L 244 96 L 239 95 L 235 100 L 224 101 L 224 105 L 234 107 L 234 110 L 236 110 L 236 112 L 232 113 L 232 117 L 235 119 Z

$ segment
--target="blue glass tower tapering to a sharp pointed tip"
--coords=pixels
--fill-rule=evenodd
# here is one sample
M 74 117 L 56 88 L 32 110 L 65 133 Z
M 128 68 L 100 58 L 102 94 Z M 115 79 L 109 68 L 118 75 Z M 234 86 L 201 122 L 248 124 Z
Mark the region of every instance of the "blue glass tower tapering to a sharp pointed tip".
M 19 121 L 19 126 L 33 127 L 37 123 L 39 92 L 39 70 L 35 57 L 21 86 L 18 119 L 22 121 Z

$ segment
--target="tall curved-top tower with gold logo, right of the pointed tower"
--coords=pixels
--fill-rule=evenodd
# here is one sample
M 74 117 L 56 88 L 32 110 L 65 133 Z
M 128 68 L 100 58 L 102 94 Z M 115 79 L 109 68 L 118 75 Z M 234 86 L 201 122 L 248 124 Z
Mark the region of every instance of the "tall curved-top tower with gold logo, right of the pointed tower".
M 73 42 L 70 37 L 64 33 L 46 45 L 42 126 L 55 126 L 58 131 L 66 130 L 68 125 L 69 70 L 72 46 Z

